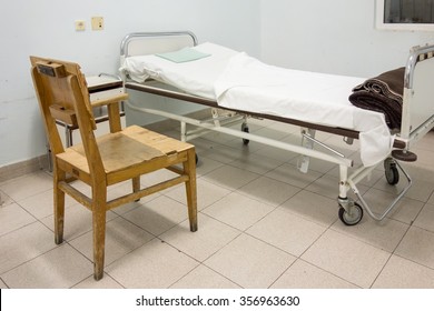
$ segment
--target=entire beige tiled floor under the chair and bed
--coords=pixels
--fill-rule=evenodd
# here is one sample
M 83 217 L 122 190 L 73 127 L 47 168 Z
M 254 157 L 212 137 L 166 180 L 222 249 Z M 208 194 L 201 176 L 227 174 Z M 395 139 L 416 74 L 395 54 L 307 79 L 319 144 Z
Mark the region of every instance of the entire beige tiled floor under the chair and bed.
M 250 132 L 299 139 L 268 121 Z M 356 147 L 318 137 L 358 161 Z M 418 161 L 404 164 L 414 187 L 397 209 L 382 222 L 365 213 L 355 227 L 337 217 L 335 165 L 312 160 L 303 174 L 290 152 L 215 133 L 193 142 L 199 230 L 188 230 L 183 187 L 109 212 L 98 282 L 90 212 L 68 200 L 66 242 L 56 245 L 51 175 L 0 183 L 0 288 L 434 288 L 434 132 L 417 144 Z M 376 212 L 403 187 L 382 170 L 359 184 Z

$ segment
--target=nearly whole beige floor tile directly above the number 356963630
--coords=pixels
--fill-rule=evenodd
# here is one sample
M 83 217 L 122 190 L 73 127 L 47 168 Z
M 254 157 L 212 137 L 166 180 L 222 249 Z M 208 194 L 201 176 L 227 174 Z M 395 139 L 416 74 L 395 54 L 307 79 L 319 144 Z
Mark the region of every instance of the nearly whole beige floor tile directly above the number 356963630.
M 243 288 L 268 288 L 295 257 L 241 234 L 204 263 Z

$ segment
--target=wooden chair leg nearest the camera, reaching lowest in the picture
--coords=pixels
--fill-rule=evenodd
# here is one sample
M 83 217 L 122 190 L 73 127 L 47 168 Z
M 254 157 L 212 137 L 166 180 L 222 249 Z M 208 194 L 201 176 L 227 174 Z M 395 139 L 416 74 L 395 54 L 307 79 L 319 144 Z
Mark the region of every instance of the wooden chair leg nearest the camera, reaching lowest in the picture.
M 107 189 L 93 190 L 92 227 L 93 227 L 93 278 L 102 279 L 106 252 L 106 202 Z M 101 193 L 102 192 L 102 193 Z

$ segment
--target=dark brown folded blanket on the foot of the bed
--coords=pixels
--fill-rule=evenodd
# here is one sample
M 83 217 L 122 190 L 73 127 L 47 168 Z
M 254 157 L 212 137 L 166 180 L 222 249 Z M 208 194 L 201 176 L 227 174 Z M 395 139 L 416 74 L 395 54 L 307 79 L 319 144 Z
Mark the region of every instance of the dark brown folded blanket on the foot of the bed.
M 384 72 L 355 87 L 349 96 L 354 106 L 382 112 L 391 129 L 401 128 L 405 68 Z

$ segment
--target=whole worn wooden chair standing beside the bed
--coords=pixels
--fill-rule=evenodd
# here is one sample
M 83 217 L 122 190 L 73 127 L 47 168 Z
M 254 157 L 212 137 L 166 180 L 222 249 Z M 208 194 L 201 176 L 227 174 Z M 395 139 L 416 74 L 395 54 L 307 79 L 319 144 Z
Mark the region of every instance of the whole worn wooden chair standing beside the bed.
M 190 230 L 197 230 L 195 148 L 189 143 L 131 126 L 120 127 L 119 100 L 106 100 L 110 133 L 96 138 L 86 80 L 77 63 L 30 57 L 31 73 L 53 156 L 55 240 L 63 241 L 65 193 L 92 212 L 95 279 L 103 275 L 106 212 L 127 202 L 185 183 Z M 77 124 L 81 144 L 65 148 L 56 120 Z M 177 165 L 181 164 L 181 165 Z M 141 188 L 140 175 L 168 169 L 177 175 Z M 91 188 L 90 198 L 72 180 Z M 107 201 L 107 187 L 132 181 L 130 193 Z

